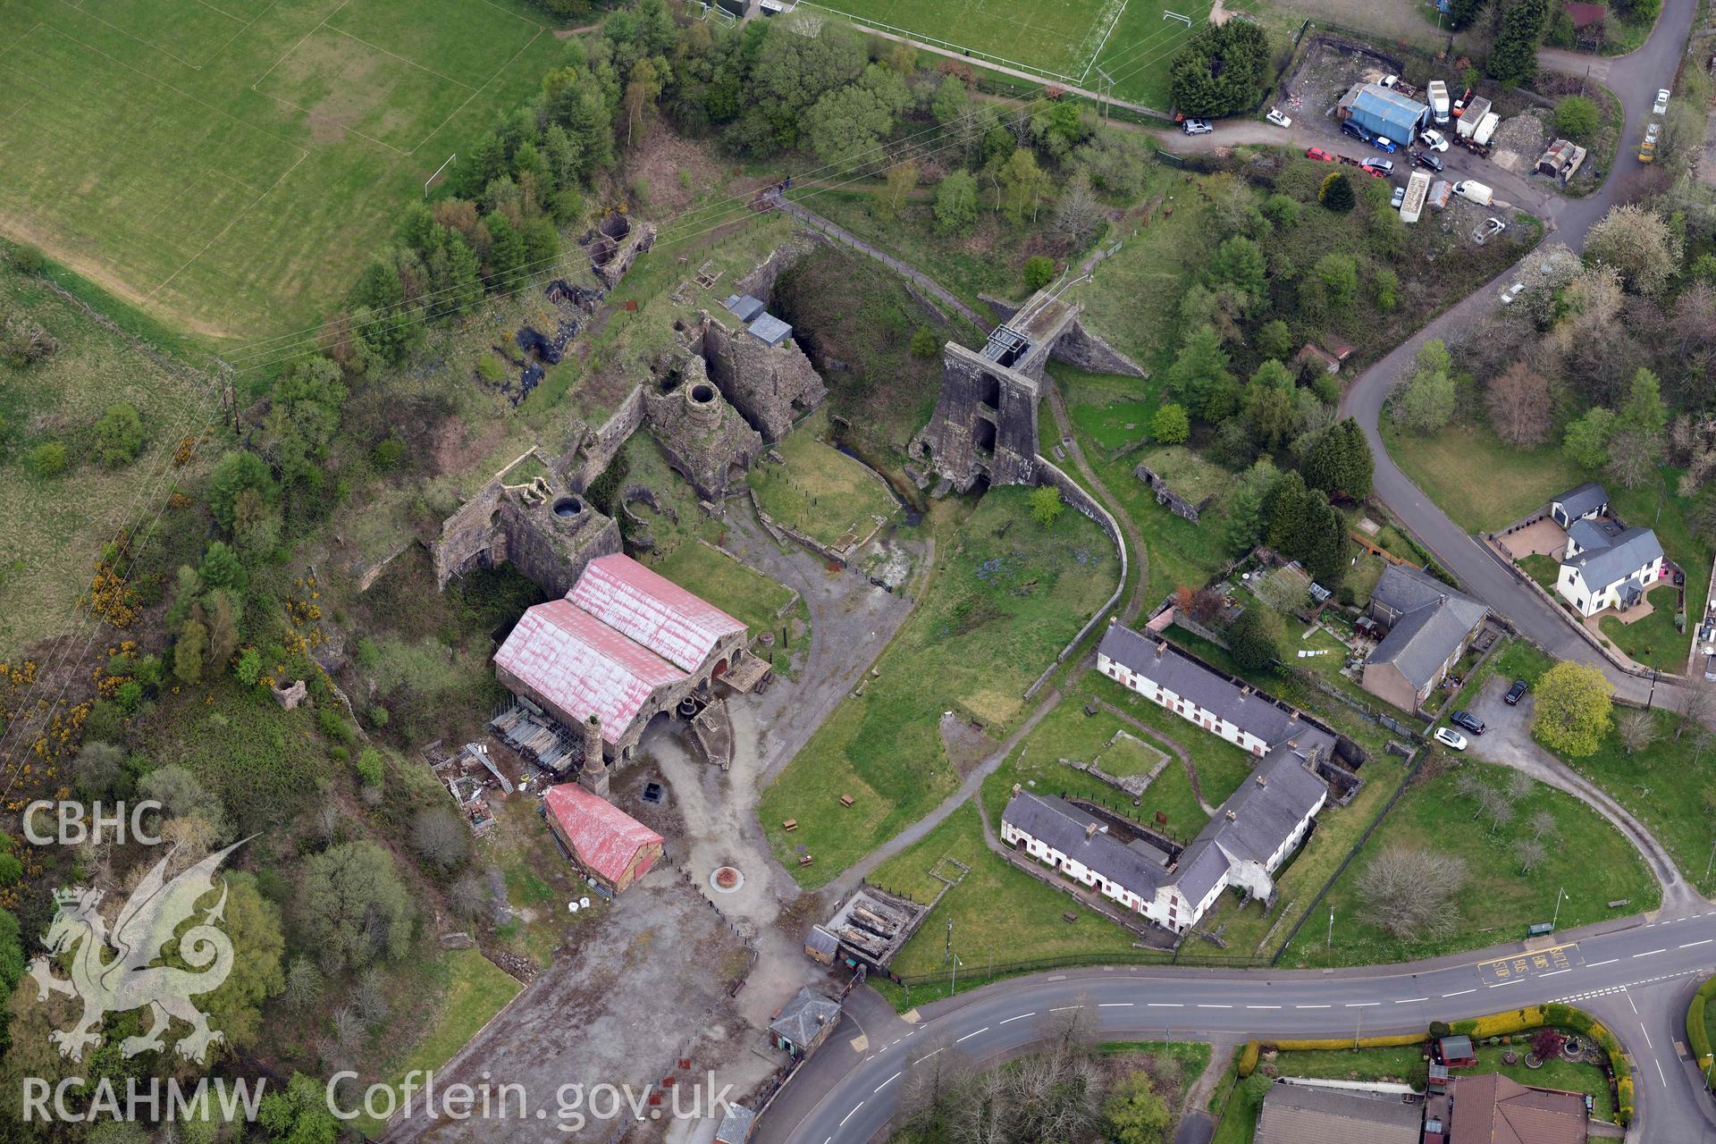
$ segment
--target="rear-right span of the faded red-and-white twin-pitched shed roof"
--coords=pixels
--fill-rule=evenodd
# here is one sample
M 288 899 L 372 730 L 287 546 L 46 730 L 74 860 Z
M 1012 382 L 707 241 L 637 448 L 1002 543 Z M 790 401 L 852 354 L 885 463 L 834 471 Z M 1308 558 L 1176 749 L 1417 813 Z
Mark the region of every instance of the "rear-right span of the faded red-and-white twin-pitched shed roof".
M 590 561 L 566 599 L 681 671 L 697 671 L 721 636 L 745 631 L 714 604 L 630 556 Z

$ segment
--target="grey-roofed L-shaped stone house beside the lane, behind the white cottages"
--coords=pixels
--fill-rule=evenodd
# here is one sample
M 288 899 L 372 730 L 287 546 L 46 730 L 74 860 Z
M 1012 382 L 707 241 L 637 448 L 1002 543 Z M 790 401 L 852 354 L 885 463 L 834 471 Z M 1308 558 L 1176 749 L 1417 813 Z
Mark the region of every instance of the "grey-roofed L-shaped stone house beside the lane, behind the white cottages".
M 1366 611 L 1388 635 L 1364 659 L 1361 686 L 1404 712 L 1429 700 L 1489 614 L 1477 600 L 1405 564 L 1383 571 Z

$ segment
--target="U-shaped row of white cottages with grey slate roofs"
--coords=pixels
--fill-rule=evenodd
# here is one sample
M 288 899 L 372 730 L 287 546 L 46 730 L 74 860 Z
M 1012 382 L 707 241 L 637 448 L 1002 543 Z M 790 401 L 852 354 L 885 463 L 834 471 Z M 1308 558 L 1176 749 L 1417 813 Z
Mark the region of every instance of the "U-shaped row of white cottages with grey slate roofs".
M 1014 787 L 1000 839 L 1122 909 L 1184 933 L 1237 887 L 1275 894 L 1275 871 L 1304 842 L 1328 801 L 1316 765 L 1335 738 L 1165 643 L 1110 624 L 1097 653 L 1110 679 L 1148 696 L 1261 760 L 1175 859 L 1145 837 L 1121 840 L 1110 825 L 1064 799 Z

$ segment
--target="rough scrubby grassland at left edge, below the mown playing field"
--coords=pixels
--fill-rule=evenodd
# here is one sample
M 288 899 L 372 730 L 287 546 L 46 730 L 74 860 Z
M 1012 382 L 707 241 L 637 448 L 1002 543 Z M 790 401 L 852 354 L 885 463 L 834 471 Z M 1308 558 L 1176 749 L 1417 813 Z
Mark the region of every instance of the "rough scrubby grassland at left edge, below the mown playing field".
M 213 389 L 136 352 L 39 278 L 0 269 L 0 312 L 27 316 L 60 343 L 29 369 L 0 364 L 0 662 L 15 664 L 39 640 L 82 631 L 77 597 L 89 590 L 101 545 L 136 523 L 149 499 L 142 491 L 163 473 L 189 484 L 220 455 L 209 441 L 172 468 L 180 441 L 199 436 L 218 405 Z M 137 460 L 106 468 L 91 456 L 94 424 L 115 401 L 142 417 L 144 441 Z M 65 472 L 33 472 L 29 455 L 45 444 L 65 448 Z

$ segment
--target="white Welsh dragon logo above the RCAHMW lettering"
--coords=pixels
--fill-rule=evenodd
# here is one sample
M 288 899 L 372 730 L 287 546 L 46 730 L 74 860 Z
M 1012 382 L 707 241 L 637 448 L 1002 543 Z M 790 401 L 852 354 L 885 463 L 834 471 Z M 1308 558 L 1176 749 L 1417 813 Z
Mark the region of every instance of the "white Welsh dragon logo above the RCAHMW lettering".
M 153 1015 L 149 1031 L 125 1038 L 120 1053 L 136 1057 L 146 1050 L 163 1048 L 161 1034 L 172 1019 L 178 1017 L 190 1026 L 190 1033 L 173 1048 L 185 1060 L 202 1063 L 209 1046 L 221 1039 L 221 1033 L 209 1029 L 208 1017 L 190 1003 L 190 995 L 220 988 L 232 972 L 232 938 L 214 924 L 227 916 L 225 878 L 220 883 L 220 900 L 202 914 L 201 923 L 178 938 L 178 957 L 197 972 L 151 962 L 161 955 L 161 947 L 173 940 L 180 923 L 197 912 L 197 900 L 214 888 L 214 871 L 220 864 L 245 842 L 249 839 L 209 854 L 172 882 L 166 880 L 166 863 L 173 858 L 168 852 L 132 890 L 118 911 L 112 935 L 96 912 L 101 890 L 72 887 L 53 892 L 58 911 L 43 943 L 50 955 L 77 947 L 72 955 L 72 976 L 53 976 L 48 955 L 36 957 L 29 964 L 29 976 L 39 988 L 38 1000 L 48 1000 L 51 991 L 84 1002 L 84 1015 L 76 1026 L 48 1034 L 48 1039 L 60 1046 L 62 1057 L 82 1060 L 84 1050 L 101 1039 L 96 1027 L 106 1014 L 148 1007 Z M 105 959 L 105 950 L 113 950 L 115 957 Z

